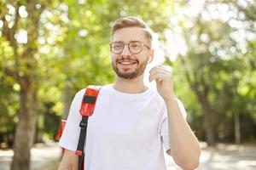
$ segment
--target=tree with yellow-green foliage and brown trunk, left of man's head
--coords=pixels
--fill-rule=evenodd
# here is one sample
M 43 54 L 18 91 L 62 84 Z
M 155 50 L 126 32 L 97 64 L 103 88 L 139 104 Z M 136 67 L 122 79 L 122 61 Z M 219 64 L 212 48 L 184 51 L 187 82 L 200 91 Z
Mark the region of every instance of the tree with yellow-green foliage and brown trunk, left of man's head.
M 149 5 L 149 8 L 143 4 Z M 166 14 L 161 13 L 166 4 L 167 1 L 160 1 L 160 5 L 148 1 L 138 1 L 136 4 L 88 1 L 84 4 L 73 0 L 1 3 L 1 9 L 8 7 L 1 10 L 0 15 L 3 42 L 9 42 L 8 48 L 13 53 L 6 59 L 8 62 L 3 62 L 1 69 L 4 74 L 13 77 L 20 87 L 19 122 L 15 131 L 12 169 L 29 169 L 30 149 L 42 101 L 54 100 L 57 105 L 60 98 L 56 94 L 66 89 L 68 97 L 64 105 L 70 105 L 67 104 L 72 99 L 70 95 L 79 88 L 113 80 L 113 72 L 109 71 L 109 23 L 129 14 L 145 15 L 146 20 L 150 19 L 151 14 L 156 14 L 153 26 L 160 31 L 167 23 L 167 20 L 160 20 L 161 16 L 166 18 Z M 141 13 L 134 5 L 141 8 Z M 60 14 L 67 14 L 68 21 L 63 21 Z M 61 33 L 53 34 L 54 31 L 47 24 L 49 27 L 60 26 Z M 26 34 L 27 41 L 23 39 L 23 42 L 19 42 L 22 34 Z M 49 52 L 42 52 L 43 48 Z M 55 90 L 54 93 L 51 89 Z M 67 112 L 68 108 L 64 111 Z

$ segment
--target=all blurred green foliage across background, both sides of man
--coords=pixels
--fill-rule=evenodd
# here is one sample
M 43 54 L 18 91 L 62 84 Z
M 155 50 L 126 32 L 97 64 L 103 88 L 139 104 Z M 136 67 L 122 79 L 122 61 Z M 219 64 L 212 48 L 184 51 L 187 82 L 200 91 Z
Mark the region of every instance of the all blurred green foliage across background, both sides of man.
M 26 1 L 19 2 L 26 5 Z M 38 1 L 41 8 L 44 7 L 38 20 L 38 30 L 28 35 L 26 43 L 17 44 L 17 54 L 9 41 L 3 38 L 3 28 L 0 28 L 0 140 L 5 133 L 14 131 L 19 111 L 20 84 L 6 71 L 7 68 L 9 71 L 17 69 L 15 55 L 23 54 L 27 48 L 38 48 L 32 59 L 22 59 L 18 74 L 30 74 L 37 80 L 40 105 L 38 136 L 43 132 L 53 138 L 63 109 L 70 105 L 63 100 L 67 84 L 73 98 L 79 89 L 89 84 L 113 82 L 108 46 L 110 28 L 114 20 L 127 15 L 142 17 L 159 33 L 162 44 L 170 39 L 165 31 L 172 31 L 184 40 L 187 53 L 180 53 L 175 62 L 166 59 L 166 64 L 174 67 L 177 96 L 183 100 L 188 121 L 200 139 L 206 138 L 206 124 L 203 123 L 202 105 L 196 90 L 206 90 L 204 94 L 207 94 L 212 107 L 214 135 L 218 140 L 234 141 L 234 114 L 241 117 L 242 139 L 255 139 L 252 130 L 256 124 L 255 40 L 246 39 L 243 47 L 231 36 L 239 28 L 230 26 L 229 21 L 224 22 L 221 18 L 204 20 L 205 13 L 184 14 L 188 12 L 189 1 L 82 2 L 55 0 L 48 4 L 48 1 Z M 236 13 L 236 8 L 240 15 L 244 14 L 243 19 L 238 17 L 234 20 L 249 25 L 249 31 L 255 31 L 252 13 L 255 3 L 248 3 L 248 8 L 241 8 L 235 1 L 218 3 L 230 5 L 230 11 Z M 16 5 L 9 1 L 1 2 L 0 20 L 9 13 L 7 4 Z M 211 4 L 217 3 L 209 1 L 204 9 L 207 11 Z M 34 29 L 34 25 L 24 17 L 20 18 L 17 29 L 18 32 L 28 31 Z M 33 39 L 37 36 L 38 39 Z

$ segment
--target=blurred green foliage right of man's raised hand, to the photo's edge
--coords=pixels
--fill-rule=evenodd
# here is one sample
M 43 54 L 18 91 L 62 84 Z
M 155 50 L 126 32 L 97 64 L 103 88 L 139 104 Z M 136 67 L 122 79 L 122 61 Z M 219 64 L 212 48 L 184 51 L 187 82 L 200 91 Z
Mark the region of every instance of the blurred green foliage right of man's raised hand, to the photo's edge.
M 247 23 L 246 30 L 242 26 L 232 26 L 230 20 L 224 21 L 223 18 L 216 16 L 211 20 L 205 19 L 205 15 L 211 15 L 209 8 L 220 8 L 221 5 L 227 5 L 228 12 L 233 14 L 239 13 L 245 14 L 245 16 L 250 14 L 247 9 L 241 8 L 236 2 L 207 2 L 202 9 L 204 12 L 198 14 L 197 18 L 186 16 L 182 18 L 183 20 L 179 20 L 179 26 L 183 27 L 183 37 L 188 46 L 188 53 L 179 57 L 182 66 L 179 71 L 186 77 L 192 92 L 197 95 L 201 106 L 200 110 L 203 110 L 206 102 L 209 103 L 215 127 L 213 133 L 219 141 L 234 141 L 235 114 L 240 116 L 241 139 L 255 139 L 249 129 L 255 129 L 254 89 L 256 84 L 253 76 L 255 77 L 256 46 L 251 39 L 242 40 L 241 35 L 239 39 L 239 34 L 237 34 L 239 31 L 245 31 L 255 37 L 255 31 L 251 31 L 255 19 L 247 16 L 247 20 L 241 20 L 239 17 L 236 18 L 236 15 L 235 18 L 230 19 L 236 20 L 237 25 Z M 254 8 L 255 3 L 250 3 L 250 7 Z M 186 27 L 185 23 L 189 21 L 194 24 L 191 27 Z M 233 35 L 237 35 L 237 37 Z M 247 44 L 246 49 L 244 43 Z M 207 101 L 201 100 L 202 94 L 207 96 Z M 195 106 L 192 107 L 195 108 Z M 248 117 L 250 117 L 250 122 L 244 123 Z M 196 121 L 193 121 L 192 124 L 195 124 Z M 201 129 L 201 125 L 197 125 L 195 128 Z

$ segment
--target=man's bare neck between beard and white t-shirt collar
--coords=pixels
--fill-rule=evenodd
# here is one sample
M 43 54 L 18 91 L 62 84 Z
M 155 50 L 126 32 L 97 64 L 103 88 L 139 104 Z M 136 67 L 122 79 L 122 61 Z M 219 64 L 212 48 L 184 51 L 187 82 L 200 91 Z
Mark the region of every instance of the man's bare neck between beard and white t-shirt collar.
M 139 94 L 147 90 L 147 87 L 143 82 L 143 75 L 133 79 L 116 77 L 116 80 L 113 84 L 113 88 L 115 88 L 119 92 L 129 94 Z

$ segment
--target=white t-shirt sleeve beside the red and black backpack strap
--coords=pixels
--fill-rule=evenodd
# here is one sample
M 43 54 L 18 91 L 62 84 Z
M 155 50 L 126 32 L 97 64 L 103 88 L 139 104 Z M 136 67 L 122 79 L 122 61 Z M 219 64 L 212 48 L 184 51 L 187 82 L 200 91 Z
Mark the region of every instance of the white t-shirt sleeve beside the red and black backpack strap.
M 59 145 L 67 150 L 77 150 L 80 133 L 79 123 L 81 121 L 79 110 L 84 92 L 85 89 L 80 90 L 73 98 L 73 102 L 70 106 L 69 114 L 67 116 L 67 123 L 59 141 Z

